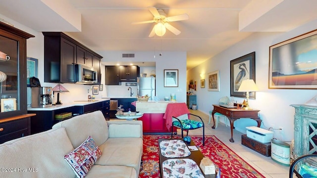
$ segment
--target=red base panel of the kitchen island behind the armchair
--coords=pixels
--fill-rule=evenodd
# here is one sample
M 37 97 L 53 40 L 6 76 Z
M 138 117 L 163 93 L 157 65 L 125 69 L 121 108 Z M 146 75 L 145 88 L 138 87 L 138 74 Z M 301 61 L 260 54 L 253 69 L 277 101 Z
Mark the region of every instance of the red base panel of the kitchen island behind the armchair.
M 164 113 L 144 113 L 138 120 L 143 122 L 143 133 L 170 133 L 166 128 Z

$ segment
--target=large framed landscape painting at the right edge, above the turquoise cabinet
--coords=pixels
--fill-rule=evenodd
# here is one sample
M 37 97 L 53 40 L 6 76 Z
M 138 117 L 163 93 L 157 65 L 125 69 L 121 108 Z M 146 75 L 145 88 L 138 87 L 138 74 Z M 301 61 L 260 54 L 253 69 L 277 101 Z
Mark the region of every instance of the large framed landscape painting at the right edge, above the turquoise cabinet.
M 269 47 L 269 89 L 317 89 L 317 30 Z

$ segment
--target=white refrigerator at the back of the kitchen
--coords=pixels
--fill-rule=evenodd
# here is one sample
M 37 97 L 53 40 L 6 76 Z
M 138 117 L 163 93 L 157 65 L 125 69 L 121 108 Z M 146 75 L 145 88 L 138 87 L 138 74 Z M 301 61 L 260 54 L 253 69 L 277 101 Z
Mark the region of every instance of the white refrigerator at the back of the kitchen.
M 155 96 L 155 77 L 138 77 L 137 78 L 138 95 L 148 94 L 149 99 L 153 100 Z

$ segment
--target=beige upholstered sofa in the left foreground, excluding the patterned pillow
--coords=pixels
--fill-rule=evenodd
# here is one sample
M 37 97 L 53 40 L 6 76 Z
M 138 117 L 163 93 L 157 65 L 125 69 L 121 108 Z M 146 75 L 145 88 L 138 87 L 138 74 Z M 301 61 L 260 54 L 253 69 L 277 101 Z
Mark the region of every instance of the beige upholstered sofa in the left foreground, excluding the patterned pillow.
M 106 121 L 101 111 L 79 115 L 0 144 L 0 178 L 75 178 L 63 157 L 89 135 L 102 155 L 86 178 L 138 178 L 142 134 L 142 121 Z

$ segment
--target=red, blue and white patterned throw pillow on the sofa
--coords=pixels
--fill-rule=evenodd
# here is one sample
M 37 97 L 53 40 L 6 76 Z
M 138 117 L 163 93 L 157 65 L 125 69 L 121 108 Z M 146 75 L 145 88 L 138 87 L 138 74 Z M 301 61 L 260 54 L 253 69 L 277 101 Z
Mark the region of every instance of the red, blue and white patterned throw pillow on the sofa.
M 78 178 L 85 178 L 88 171 L 101 157 L 101 150 L 91 136 L 76 149 L 64 156 L 69 166 L 73 169 Z

